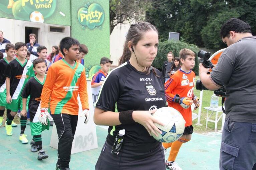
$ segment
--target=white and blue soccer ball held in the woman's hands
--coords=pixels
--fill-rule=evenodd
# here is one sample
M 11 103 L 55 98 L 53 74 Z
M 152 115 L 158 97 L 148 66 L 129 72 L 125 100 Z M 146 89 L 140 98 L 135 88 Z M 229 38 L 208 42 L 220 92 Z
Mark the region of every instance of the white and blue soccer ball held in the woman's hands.
M 152 136 L 159 142 L 171 143 L 178 140 L 185 128 L 185 120 L 181 113 L 173 107 L 159 108 L 153 117 L 159 119 L 165 126 L 155 123 L 162 134 L 158 133 L 158 137 L 152 133 Z

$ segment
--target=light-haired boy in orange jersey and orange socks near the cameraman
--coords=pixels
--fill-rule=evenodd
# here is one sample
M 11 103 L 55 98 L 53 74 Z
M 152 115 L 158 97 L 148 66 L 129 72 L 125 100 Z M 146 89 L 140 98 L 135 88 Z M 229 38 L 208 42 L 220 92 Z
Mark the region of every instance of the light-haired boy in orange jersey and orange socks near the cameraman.
M 189 49 L 180 51 L 181 69 L 179 69 L 165 83 L 165 95 L 168 106 L 178 110 L 186 121 L 185 130 L 181 138 L 173 143 L 163 143 L 164 149 L 171 147 L 170 155 L 166 161 L 166 168 L 181 170 L 175 162 L 181 145 L 190 141 L 193 133 L 191 105 L 195 109 L 199 106 L 199 98 L 194 95 L 195 73 L 191 70 L 195 66 L 195 53 Z

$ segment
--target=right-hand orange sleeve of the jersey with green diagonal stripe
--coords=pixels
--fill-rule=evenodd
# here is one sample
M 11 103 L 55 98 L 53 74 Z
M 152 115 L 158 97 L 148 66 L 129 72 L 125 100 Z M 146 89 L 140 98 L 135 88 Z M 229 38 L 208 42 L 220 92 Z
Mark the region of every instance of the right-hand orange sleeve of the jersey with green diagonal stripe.
M 78 87 L 78 93 L 80 96 L 80 100 L 82 103 L 82 109 L 88 109 L 89 110 L 89 103 L 88 103 L 88 93 L 87 93 L 87 82 L 86 82 L 86 76 L 85 76 L 85 69 L 83 69 L 80 77 L 80 83 Z

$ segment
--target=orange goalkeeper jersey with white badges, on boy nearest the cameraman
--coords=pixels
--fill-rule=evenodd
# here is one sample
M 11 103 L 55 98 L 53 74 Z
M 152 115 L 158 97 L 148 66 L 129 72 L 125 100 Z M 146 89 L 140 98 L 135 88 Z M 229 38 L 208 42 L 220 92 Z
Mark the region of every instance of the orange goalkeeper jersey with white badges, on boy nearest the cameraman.
M 195 73 L 190 70 L 186 73 L 179 69 L 171 78 L 165 83 L 165 95 L 168 101 L 168 106 L 178 110 L 186 121 L 185 126 L 192 125 L 192 110 L 183 108 L 180 104 L 174 102 L 174 96 L 178 94 L 180 97 L 193 98 L 194 85 L 195 85 Z

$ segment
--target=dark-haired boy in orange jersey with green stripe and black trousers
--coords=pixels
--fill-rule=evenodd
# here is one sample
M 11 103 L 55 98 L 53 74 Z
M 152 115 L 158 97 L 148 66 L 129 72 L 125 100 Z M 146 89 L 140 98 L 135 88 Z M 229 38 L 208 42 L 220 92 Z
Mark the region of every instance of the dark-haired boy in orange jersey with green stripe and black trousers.
M 47 124 L 50 107 L 59 137 L 56 170 L 69 170 L 70 152 L 78 119 L 78 94 L 83 110 L 80 116 L 85 117 L 85 123 L 89 118 L 85 68 L 76 62 L 79 45 L 80 43 L 71 37 L 65 37 L 60 41 L 59 47 L 64 59 L 49 68 L 41 94 L 39 121 Z

